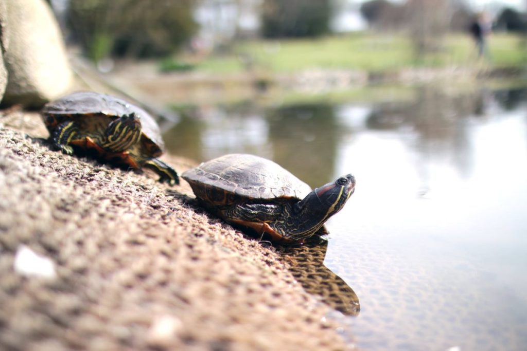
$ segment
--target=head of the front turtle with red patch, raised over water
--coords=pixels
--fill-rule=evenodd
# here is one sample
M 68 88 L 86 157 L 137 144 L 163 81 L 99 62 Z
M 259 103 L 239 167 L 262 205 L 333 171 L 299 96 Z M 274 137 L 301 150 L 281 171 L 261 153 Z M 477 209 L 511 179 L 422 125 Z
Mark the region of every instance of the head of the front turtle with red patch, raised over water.
M 353 192 L 355 192 L 355 177 L 351 174 L 341 176 L 335 182 L 313 190 L 319 206 L 326 209 L 325 220 L 339 212 Z

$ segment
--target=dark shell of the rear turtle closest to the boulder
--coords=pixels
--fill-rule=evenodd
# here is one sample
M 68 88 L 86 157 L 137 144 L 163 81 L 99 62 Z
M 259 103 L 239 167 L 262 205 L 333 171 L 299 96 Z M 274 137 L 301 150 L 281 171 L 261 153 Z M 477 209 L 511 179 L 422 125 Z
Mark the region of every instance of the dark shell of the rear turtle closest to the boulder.
M 159 126 L 152 116 L 144 109 L 115 96 L 95 92 L 75 92 L 47 103 L 42 109 L 42 113 L 69 118 L 90 118 L 95 115 L 106 115 L 112 119 L 134 113 L 141 121 L 143 142 L 149 144 L 148 150 L 152 156 L 157 157 L 164 151 Z M 45 119 L 44 122 L 46 122 Z

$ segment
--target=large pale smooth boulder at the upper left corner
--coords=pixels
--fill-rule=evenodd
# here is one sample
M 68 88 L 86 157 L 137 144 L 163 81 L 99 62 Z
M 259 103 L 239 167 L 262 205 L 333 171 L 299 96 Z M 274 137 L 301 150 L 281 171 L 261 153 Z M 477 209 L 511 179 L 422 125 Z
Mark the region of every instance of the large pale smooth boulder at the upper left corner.
M 8 73 L 2 104 L 40 107 L 72 81 L 60 29 L 43 0 L 0 0 L 0 7 Z

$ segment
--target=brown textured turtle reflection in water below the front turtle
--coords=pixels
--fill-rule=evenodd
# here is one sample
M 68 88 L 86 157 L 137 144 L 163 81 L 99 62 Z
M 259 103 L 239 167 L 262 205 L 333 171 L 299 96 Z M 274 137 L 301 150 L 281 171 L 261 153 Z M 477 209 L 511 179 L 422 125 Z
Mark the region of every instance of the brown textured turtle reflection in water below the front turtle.
M 323 302 L 344 315 L 357 316 L 359 298 L 342 278 L 324 266 L 328 242 L 317 236 L 304 245 L 287 245 L 276 248 L 280 259 L 306 292 L 321 297 Z

